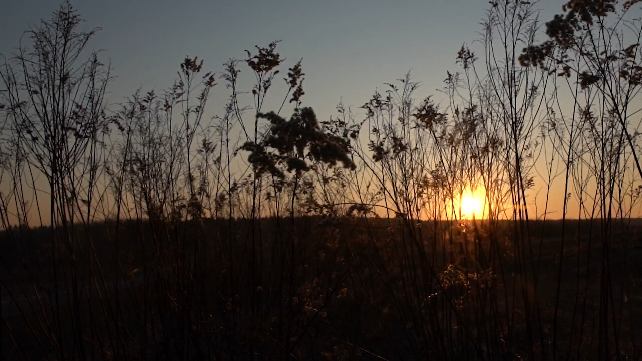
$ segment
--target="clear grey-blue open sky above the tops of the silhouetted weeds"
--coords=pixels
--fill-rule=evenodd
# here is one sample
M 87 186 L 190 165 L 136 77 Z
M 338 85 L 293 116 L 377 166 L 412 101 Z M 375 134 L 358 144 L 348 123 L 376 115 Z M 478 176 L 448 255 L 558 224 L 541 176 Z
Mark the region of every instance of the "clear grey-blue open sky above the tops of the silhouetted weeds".
M 28 24 L 49 19 L 58 4 L 22 0 L 4 5 L 0 53 L 10 53 Z M 89 48 L 105 49 L 103 59 L 112 62 L 117 78 L 110 87 L 111 103 L 138 87 L 145 91 L 168 87 L 186 55 L 197 55 L 205 60 L 205 68 L 221 71 L 228 58 L 243 58 L 244 49 L 280 39 L 277 49 L 288 58 L 283 70 L 303 58 L 304 103 L 321 118 L 333 114 L 340 99 L 345 105 L 363 105 L 376 87 L 407 71 L 422 82 L 422 96 L 436 93 L 446 71 L 456 69 L 458 49 L 476 39 L 489 6 L 485 0 L 76 0 L 72 4 L 87 28 L 103 28 Z M 547 14 L 560 10 L 554 0 L 537 6 Z M 214 102 L 221 105 L 225 96 L 219 85 Z

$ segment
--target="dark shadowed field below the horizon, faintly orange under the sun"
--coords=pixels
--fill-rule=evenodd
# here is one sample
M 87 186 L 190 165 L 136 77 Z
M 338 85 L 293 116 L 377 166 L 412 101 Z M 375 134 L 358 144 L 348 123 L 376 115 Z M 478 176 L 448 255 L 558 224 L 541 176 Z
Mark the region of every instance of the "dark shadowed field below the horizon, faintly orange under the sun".
M 612 227 L 607 256 L 598 220 L 567 220 L 563 258 L 560 221 L 530 222 L 530 242 L 508 221 L 257 224 L 252 240 L 247 220 L 128 221 L 115 269 L 114 224 L 94 224 L 98 258 L 72 267 L 61 256 L 57 285 L 42 257 L 49 229 L 25 231 L 22 253 L 4 232 L 4 357 L 82 346 L 117 359 L 543 359 L 555 337 L 560 355 L 586 359 L 600 330 L 612 354 L 641 357 L 639 220 Z M 56 324 L 67 339 L 51 339 Z

